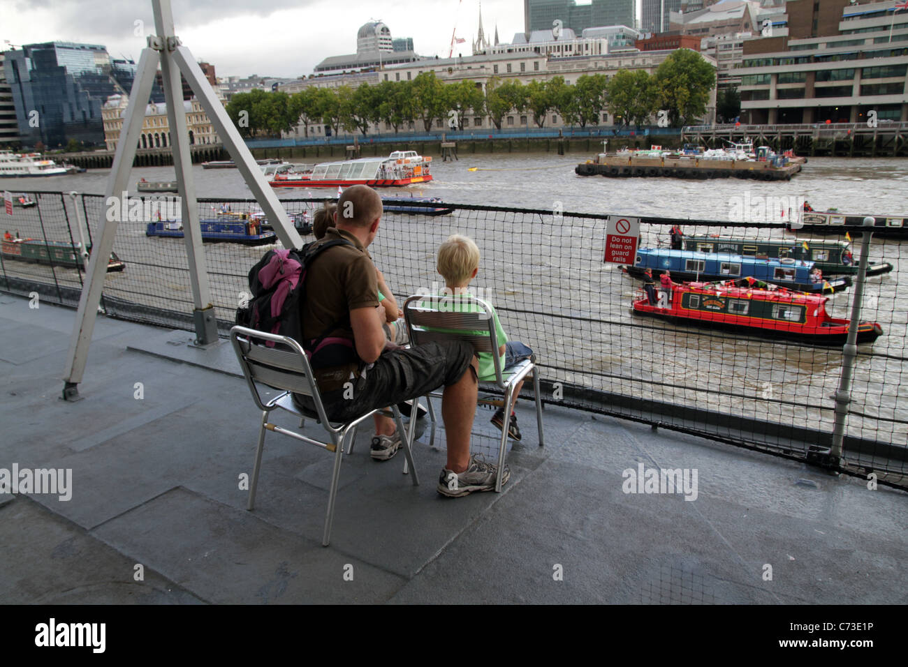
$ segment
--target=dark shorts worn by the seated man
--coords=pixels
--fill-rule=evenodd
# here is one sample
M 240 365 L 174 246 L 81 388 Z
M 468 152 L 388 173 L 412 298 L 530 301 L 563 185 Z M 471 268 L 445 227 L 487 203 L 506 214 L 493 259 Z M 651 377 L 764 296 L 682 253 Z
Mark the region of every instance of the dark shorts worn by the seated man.
M 352 398 L 349 391 L 345 398 L 347 390 L 342 388 L 321 395 L 325 412 L 331 421 L 346 422 L 379 407 L 426 396 L 457 382 L 467 372 L 474 354 L 473 346 L 463 340 L 384 352 L 366 372 L 365 380 L 351 380 Z M 294 395 L 293 400 L 307 410 L 315 409 L 310 397 Z

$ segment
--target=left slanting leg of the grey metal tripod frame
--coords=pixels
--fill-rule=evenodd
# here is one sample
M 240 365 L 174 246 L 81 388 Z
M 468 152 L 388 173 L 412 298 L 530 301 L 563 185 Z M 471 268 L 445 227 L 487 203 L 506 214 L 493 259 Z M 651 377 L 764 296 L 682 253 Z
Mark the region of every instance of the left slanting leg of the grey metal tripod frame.
M 149 44 L 155 38 L 149 37 Z M 104 277 L 107 275 L 107 260 L 114 250 L 114 237 L 117 226 L 123 220 L 123 192 L 127 191 L 129 173 L 133 168 L 136 146 L 142 132 L 145 118 L 145 106 L 152 93 L 154 74 L 158 69 L 158 54 L 153 48 L 145 48 L 139 58 L 133 89 L 129 93 L 129 104 L 123 119 L 123 129 L 114 152 L 114 164 L 107 188 L 104 192 L 106 214 L 98 221 L 99 239 L 94 244 L 88 270 L 85 271 L 85 284 L 79 298 L 79 309 L 75 316 L 73 336 L 70 339 L 69 352 L 64 368 L 63 397 L 66 400 L 77 400 L 79 397 L 76 385 L 82 382 L 85 361 L 88 358 L 88 347 L 92 342 L 94 319 L 97 316 L 98 304 L 101 302 L 101 291 L 104 289 Z

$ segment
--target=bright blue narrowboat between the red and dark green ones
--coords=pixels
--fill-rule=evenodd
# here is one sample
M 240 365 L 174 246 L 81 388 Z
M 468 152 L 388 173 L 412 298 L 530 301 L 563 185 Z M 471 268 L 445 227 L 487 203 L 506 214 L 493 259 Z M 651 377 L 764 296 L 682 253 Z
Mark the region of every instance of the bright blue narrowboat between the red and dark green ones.
M 666 248 L 641 248 L 637 250 L 634 266 L 625 267 L 632 276 L 642 277 L 646 269 L 654 276 L 664 270 L 677 280 L 733 280 L 752 278 L 772 282 L 787 289 L 804 292 L 841 291 L 852 283 L 848 276 L 824 279 L 822 272 L 814 269 L 813 261 L 757 259 L 725 252 L 696 252 L 696 250 L 669 250 Z

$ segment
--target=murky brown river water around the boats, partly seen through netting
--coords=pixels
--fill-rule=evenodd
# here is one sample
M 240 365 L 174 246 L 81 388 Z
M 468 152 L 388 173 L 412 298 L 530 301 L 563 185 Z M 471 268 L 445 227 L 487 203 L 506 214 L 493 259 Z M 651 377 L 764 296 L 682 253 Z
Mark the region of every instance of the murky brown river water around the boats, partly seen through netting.
M 745 215 L 781 221 L 792 202 L 810 201 L 814 209 L 836 207 L 852 213 L 908 216 L 908 161 L 902 159 L 814 158 L 792 181 L 724 179 L 685 181 L 665 178 L 607 179 L 574 173 L 586 153 L 475 154 L 458 162 L 432 163 L 434 181 L 383 194 L 439 197 L 477 205 L 565 211 L 563 217 L 500 211 L 458 211 L 440 218 L 386 214 L 370 248 L 399 295 L 437 287 L 434 253 L 449 233 L 467 233 L 483 253 L 475 285 L 492 295 L 511 338 L 538 352 L 545 378 L 588 387 L 710 407 L 730 415 L 757 417 L 782 425 L 832 430 L 841 350 L 742 338 L 706 329 L 664 325 L 633 317 L 631 301 L 638 281 L 602 262 L 605 224 L 568 212 L 650 215 L 729 220 Z M 476 167 L 476 171 L 469 171 Z M 0 180 L 14 191 L 79 191 L 102 194 L 109 170 L 47 179 Z M 246 198 L 250 191 L 236 170 L 192 168 L 199 197 Z M 172 167 L 141 167 L 131 182 L 173 179 Z M 336 197 L 336 190 L 281 190 L 281 200 Z M 59 199 L 59 198 L 57 198 Z M 759 204 L 757 208 L 755 202 Z M 288 204 L 291 211 L 301 204 Z M 749 207 L 749 208 L 748 208 Z M 71 208 L 71 207 L 70 207 Z M 238 208 L 242 208 L 238 207 Z M 42 216 L 15 211 L 10 227 L 23 236 L 67 238 L 64 215 L 54 198 L 42 199 Z M 93 230 L 104 213 L 103 202 L 88 200 Z M 70 212 L 72 216 L 72 211 Z M 694 228 L 686 233 L 719 233 Z M 727 231 L 726 231 L 727 233 Z M 740 233 L 740 232 L 739 232 Z M 792 238 L 785 232 L 747 230 L 749 236 Z M 832 237 L 830 237 L 832 238 Z M 641 246 L 666 243 L 666 229 L 644 226 Z M 859 246 L 859 243 L 855 244 Z M 906 243 L 908 246 L 908 243 Z M 124 223 L 114 250 L 127 262 L 122 274 L 111 274 L 105 292 L 141 299 L 169 309 L 192 309 L 183 244 L 144 236 L 142 221 Z M 219 316 L 230 318 L 245 273 L 262 256 L 262 248 L 206 244 L 212 298 Z M 855 250 L 855 256 L 857 248 Z M 902 244 L 875 239 L 872 258 L 895 265 L 892 273 L 868 280 L 862 319 L 878 321 L 885 335 L 861 346 L 854 377 L 854 403 L 849 433 L 905 445 L 908 439 L 908 377 L 904 338 L 908 309 L 899 284 L 908 283 L 908 258 Z M 11 275 L 48 280 L 44 267 L 5 262 Z M 904 266 L 904 269 L 900 267 Z M 57 280 L 78 285 L 74 270 L 57 270 Z M 53 281 L 51 278 L 50 281 Z M 849 317 L 852 290 L 836 294 L 831 310 Z

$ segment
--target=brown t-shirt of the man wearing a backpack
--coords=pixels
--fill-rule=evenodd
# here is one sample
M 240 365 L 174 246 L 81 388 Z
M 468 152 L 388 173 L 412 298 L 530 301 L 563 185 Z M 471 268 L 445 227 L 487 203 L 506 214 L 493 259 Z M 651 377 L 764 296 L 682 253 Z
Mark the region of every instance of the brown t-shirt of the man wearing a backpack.
M 300 309 L 302 335 L 307 340 L 321 336 L 335 322 L 341 324 L 328 336 L 352 339 L 350 310 L 379 305 L 375 265 L 360 240 L 349 231 L 331 227 L 317 242 L 338 239 L 348 240 L 353 246 L 339 245 L 324 250 L 307 271 L 306 303 Z M 320 381 L 328 375 L 331 374 L 324 371 L 316 373 Z

